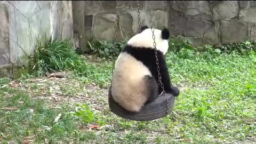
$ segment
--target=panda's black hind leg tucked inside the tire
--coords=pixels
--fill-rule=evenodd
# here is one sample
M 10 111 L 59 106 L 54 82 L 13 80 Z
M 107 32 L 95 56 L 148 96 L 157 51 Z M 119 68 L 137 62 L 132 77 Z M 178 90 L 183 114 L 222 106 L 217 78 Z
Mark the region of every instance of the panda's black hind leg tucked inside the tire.
M 145 76 L 145 82 L 147 86 L 148 100 L 146 103 L 154 101 L 158 97 L 158 87 L 156 83 L 156 79 L 149 75 Z

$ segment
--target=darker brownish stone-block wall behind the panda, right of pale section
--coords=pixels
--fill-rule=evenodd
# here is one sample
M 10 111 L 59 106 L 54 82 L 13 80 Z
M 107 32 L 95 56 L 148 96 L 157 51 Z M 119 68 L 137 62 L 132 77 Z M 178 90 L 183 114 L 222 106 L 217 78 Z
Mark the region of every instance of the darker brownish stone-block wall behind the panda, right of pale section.
M 139 1 L 141 24 L 150 26 L 148 2 Z M 77 46 L 89 40 L 114 38 L 115 1 L 73 1 Z M 194 46 L 256 40 L 256 1 L 151 1 L 156 28 L 185 36 Z M 119 1 L 119 40 L 138 29 L 137 1 Z

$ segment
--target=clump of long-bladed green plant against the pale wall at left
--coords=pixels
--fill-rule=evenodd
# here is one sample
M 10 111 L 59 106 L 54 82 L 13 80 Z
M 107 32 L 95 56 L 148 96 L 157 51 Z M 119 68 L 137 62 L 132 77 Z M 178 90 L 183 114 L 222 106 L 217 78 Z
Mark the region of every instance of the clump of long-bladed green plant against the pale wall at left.
M 46 38 L 36 39 L 34 66 L 31 70 L 37 75 L 47 75 L 56 71 L 74 69 L 81 66 L 84 61 L 73 50 L 69 39 L 63 41 Z

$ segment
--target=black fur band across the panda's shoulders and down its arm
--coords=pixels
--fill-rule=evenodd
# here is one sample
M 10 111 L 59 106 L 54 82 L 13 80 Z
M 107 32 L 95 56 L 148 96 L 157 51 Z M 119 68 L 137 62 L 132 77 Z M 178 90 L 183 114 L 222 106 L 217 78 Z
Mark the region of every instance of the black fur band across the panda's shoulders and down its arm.
M 156 57 L 154 49 L 146 48 L 146 47 L 133 47 L 131 45 L 126 45 L 122 52 L 127 52 L 131 54 L 135 59 L 141 61 L 146 67 L 148 67 L 149 71 L 158 82 L 158 72 L 156 65 Z M 164 55 L 161 51 L 157 51 L 158 58 L 158 66 L 160 68 L 160 74 L 162 77 L 162 83 L 164 85 L 164 90 L 166 93 L 172 93 L 175 96 L 179 95 L 178 87 L 175 87 L 171 83 L 171 79 L 169 76 L 168 68 L 165 62 Z M 158 95 L 161 94 L 162 88 L 158 87 Z

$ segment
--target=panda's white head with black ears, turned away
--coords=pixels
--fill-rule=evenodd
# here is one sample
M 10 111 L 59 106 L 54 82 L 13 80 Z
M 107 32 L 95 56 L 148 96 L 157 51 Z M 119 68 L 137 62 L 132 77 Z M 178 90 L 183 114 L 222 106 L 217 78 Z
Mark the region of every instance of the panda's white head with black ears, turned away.
M 154 29 L 156 49 L 163 52 L 165 54 L 169 48 L 168 39 L 170 37 L 169 30 L 167 28 L 163 28 L 162 30 Z M 133 36 L 127 44 L 133 47 L 146 47 L 155 49 L 154 47 L 154 39 L 153 32 L 151 28 L 147 26 L 141 27 L 141 33 Z

